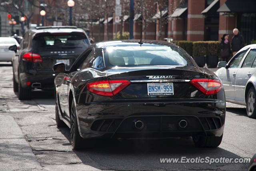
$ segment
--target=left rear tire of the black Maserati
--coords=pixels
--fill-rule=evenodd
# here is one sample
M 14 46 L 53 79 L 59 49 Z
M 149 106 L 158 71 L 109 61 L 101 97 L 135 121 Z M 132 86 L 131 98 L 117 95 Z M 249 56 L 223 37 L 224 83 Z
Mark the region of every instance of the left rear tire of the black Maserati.
M 79 134 L 74 101 L 72 101 L 70 109 L 70 141 L 73 149 L 84 149 L 88 147 L 85 139 Z

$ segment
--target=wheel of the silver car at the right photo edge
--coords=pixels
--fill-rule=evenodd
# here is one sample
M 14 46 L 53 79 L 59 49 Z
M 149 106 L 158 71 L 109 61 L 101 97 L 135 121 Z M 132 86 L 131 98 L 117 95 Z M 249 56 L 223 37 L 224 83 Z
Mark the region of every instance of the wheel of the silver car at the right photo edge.
M 246 97 L 246 113 L 248 117 L 256 118 L 256 91 L 254 87 L 251 87 L 247 93 Z

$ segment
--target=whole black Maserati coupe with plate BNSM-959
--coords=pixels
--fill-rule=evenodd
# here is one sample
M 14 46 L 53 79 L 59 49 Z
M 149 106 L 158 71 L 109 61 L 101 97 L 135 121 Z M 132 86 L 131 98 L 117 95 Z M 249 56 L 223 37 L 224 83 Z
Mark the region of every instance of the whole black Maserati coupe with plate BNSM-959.
M 56 123 L 70 127 L 74 149 L 100 138 L 192 136 L 198 147 L 222 141 L 222 83 L 174 44 L 99 42 L 69 70 L 59 63 L 54 71 Z

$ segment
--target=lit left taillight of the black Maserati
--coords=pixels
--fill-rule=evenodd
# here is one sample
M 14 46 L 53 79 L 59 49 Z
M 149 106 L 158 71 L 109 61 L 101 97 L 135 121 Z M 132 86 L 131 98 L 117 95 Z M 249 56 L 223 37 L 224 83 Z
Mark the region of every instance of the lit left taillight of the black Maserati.
M 92 93 L 113 96 L 122 91 L 131 82 L 128 80 L 102 80 L 87 84 L 87 89 Z

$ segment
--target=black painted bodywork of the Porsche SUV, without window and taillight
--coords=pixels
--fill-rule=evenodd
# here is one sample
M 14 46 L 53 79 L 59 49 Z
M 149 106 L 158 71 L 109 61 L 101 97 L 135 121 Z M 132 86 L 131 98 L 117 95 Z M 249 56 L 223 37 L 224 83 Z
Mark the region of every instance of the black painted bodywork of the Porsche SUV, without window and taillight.
M 31 29 L 28 30 L 24 34 L 24 39 L 21 43 L 21 49 L 16 53 L 15 57 L 12 59 L 12 66 L 14 72 L 14 79 L 16 82 L 19 81 L 23 88 L 31 87 L 31 85 L 27 85 L 26 82 L 33 83 L 41 83 L 41 87 L 43 90 L 52 90 L 54 87 L 54 78 L 55 74 L 52 71 L 53 64 L 56 63 L 56 59 L 70 59 L 70 63 L 74 62 L 76 58 L 84 51 L 81 48 L 80 51 L 72 53 L 72 55 L 68 54 L 67 56 L 60 56 L 59 54 L 50 54 L 48 52 L 34 52 L 33 49 L 33 38 L 36 36 L 42 35 L 50 35 L 56 33 L 63 34 L 82 34 L 88 36 L 83 30 L 78 30 L 77 28 L 65 28 L 65 27 L 45 27 L 42 29 Z M 89 40 L 89 39 L 88 39 Z M 25 48 L 24 48 L 25 46 Z M 74 50 L 72 50 L 74 51 Z M 27 52 L 34 52 L 40 54 L 43 62 L 34 63 L 30 61 L 22 60 L 22 56 Z M 54 58 L 52 58 L 54 57 Z

